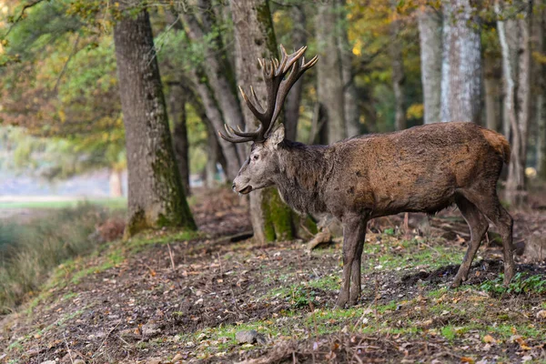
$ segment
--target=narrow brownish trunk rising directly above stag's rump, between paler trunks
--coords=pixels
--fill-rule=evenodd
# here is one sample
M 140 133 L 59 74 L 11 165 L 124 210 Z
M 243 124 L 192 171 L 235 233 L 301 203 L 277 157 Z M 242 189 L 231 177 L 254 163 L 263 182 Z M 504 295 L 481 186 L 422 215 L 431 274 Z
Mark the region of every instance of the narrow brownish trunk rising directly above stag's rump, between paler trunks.
M 497 55 L 483 56 L 483 89 L 485 92 L 485 126 L 500 131 L 501 119 L 501 65 Z

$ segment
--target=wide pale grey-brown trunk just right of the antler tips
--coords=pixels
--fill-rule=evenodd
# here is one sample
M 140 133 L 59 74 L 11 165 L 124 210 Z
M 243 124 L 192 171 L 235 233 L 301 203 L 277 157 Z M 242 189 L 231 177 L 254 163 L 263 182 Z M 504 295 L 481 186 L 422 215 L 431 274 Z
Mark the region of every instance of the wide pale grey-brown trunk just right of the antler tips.
M 336 5 L 335 0 L 325 0 L 317 5 L 319 10 L 316 28 L 320 58 L 317 64 L 317 96 L 327 117 L 329 144 L 347 137 Z

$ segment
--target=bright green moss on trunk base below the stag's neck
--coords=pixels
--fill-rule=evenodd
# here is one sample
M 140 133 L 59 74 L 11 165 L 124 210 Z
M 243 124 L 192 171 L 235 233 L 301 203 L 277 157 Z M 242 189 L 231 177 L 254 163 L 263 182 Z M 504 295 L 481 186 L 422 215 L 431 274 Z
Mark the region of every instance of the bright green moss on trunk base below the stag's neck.
M 282 202 L 277 188 L 266 188 L 262 192 L 264 233 L 268 241 L 291 240 L 295 236 L 294 213 Z

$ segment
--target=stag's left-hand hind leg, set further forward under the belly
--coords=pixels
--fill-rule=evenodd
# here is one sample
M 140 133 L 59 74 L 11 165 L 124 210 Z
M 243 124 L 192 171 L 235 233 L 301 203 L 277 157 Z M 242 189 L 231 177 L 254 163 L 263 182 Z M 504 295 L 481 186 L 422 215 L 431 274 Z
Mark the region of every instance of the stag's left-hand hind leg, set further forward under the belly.
M 483 216 L 478 207 L 474 206 L 465 197 L 456 197 L 455 202 L 459 207 L 462 217 L 466 220 L 470 227 L 470 243 L 469 248 L 460 263 L 459 271 L 451 283 L 451 288 L 457 288 L 462 281 L 469 278 L 469 270 L 472 265 L 472 260 L 476 256 L 478 248 L 480 248 L 481 240 L 487 232 L 489 223 L 487 218 Z

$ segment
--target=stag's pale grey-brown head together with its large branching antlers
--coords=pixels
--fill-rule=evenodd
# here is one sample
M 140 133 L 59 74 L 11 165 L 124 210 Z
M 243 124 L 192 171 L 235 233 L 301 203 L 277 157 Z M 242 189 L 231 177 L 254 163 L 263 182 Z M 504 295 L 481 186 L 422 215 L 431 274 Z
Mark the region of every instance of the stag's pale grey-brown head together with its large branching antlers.
M 267 89 L 267 105 L 261 106 L 254 88 L 250 87 L 250 94 L 254 102 L 239 87 L 248 108 L 258 119 L 260 126 L 254 132 L 235 130 L 225 126 L 226 134 L 218 134 L 232 143 L 252 142 L 250 156 L 241 167 L 237 177 L 233 180 L 233 190 L 242 194 L 258 188 L 269 187 L 274 184 L 274 177 L 279 173 L 278 148 L 284 140 L 284 126 L 280 125 L 271 132 L 275 121 L 280 114 L 288 91 L 310 67 L 315 66 L 318 57 L 314 56 L 308 63 L 305 62 L 307 46 L 297 52 L 287 55 L 285 48 L 280 45 L 281 60 L 273 58 L 258 60 L 262 68 L 264 82 Z

